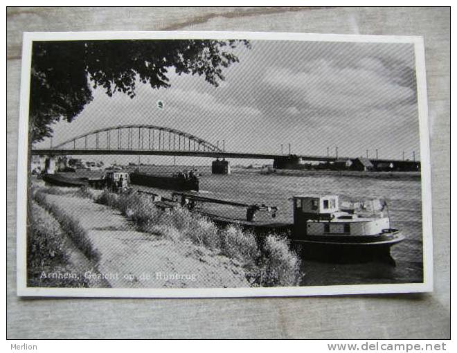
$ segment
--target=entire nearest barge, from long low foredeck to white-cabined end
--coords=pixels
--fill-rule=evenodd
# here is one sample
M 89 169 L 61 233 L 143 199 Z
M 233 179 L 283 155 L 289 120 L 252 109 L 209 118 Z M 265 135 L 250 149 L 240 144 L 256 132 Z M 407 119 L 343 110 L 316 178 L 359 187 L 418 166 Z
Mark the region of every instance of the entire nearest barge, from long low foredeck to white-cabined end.
M 292 248 L 307 260 L 332 263 L 381 261 L 395 264 L 391 257 L 391 246 L 404 239 L 400 230 L 391 228 L 386 215 L 386 203 L 377 199 L 343 201 L 343 207 L 340 208 L 337 195 L 296 195 L 292 197 L 293 223 L 254 219 L 259 210 L 276 217 L 276 206 L 213 199 L 193 192 L 174 192 L 172 201 L 196 210 L 218 226 L 234 225 L 257 235 L 275 233 L 289 237 Z M 246 208 L 246 219 L 201 210 L 197 206 L 201 202 Z

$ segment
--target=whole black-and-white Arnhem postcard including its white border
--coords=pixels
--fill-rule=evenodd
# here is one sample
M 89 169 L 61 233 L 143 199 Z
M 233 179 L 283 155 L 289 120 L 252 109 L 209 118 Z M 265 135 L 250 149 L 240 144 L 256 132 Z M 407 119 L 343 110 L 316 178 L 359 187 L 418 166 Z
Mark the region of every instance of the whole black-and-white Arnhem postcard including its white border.
M 25 33 L 19 296 L 433 289 L 421 37 Z

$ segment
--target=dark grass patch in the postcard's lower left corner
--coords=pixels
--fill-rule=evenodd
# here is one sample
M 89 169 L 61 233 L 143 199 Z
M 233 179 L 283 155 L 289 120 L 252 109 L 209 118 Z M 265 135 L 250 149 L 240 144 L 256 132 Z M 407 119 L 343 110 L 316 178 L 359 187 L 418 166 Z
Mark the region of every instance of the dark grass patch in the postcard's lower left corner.
M 84 276 L 69 263 L 65 235 L 59 223 L 35 202 L 30 210 L 33 222 L 29 224 L 27 233 L 28 287 L 89 287 Z M 59 278 L 58 273 L 72 275 Z

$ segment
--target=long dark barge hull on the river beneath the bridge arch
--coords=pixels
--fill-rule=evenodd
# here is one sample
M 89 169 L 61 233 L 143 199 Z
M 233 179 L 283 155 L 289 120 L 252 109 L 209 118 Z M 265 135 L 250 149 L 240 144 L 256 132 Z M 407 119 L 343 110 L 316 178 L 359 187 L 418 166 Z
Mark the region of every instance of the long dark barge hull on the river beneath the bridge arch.
M 130 173 L 130 182 L 135 185 L 167 190 L 199 190 L 199 181 L 179 177 L 159 177 L 155 175 Z

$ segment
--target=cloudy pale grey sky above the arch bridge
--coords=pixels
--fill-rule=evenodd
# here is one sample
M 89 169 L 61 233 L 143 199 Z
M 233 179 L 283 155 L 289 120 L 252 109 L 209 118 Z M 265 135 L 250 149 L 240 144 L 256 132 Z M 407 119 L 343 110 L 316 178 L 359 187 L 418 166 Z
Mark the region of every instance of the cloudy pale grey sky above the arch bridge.
M 55 124 L 53 145 L 102 127 L 151 124 L 224 139 L 230 151 L 280 153 L 290 143 L 294 154 L 334 155 L 338 147 L 339 156 L 368 150 L 374 158 L 377 149 L 380 159 L 412 159 L 413 151 L 420 159 L 413 44 L 256 40 L 235 53 L 240 62 L 224 69 L 219 87 L 170 69 L 170 88 L 137 82 L 133 99 L 94 89 L 72 123 Z

